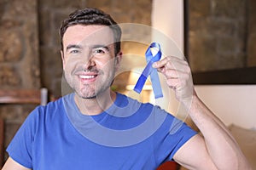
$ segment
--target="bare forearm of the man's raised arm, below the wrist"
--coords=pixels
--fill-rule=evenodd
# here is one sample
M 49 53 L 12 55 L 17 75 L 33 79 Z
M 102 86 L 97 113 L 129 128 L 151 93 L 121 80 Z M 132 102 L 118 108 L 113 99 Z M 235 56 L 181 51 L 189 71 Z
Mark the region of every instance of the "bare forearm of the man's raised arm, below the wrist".
M 250 169 L 236 140 L 217 116 L 194 95 L 187 105 L 189 115 L 200 129 L 207 151 L 218 169 Z

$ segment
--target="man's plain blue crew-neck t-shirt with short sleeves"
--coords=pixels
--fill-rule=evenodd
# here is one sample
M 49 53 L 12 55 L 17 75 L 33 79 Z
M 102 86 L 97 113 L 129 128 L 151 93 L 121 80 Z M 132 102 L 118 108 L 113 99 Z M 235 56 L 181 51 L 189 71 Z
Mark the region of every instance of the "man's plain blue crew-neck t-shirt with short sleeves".
M 7 149 L 37 170 L 155 169 L 195 131 L 158 106 L 117 94 L 108 110 L 83 115 L 68 94 L 38 106 Z

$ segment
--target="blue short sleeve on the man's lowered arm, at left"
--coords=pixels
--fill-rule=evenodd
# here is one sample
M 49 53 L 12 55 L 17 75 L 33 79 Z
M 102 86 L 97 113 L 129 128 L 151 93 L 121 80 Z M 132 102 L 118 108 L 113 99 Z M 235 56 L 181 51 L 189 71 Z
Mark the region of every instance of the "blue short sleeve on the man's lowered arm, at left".
M 37 122 L 38 108 L 26 117 L 26 121 L 23 122 L 6 150 L 13 160 L 27 168 L 32 168 L 32 145 L 37 131 Z

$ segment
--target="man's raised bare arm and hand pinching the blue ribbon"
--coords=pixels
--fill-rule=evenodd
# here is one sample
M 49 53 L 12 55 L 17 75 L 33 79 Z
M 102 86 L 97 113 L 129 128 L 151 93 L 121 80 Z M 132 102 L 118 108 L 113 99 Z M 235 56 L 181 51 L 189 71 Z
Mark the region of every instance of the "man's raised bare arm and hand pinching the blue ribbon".
M 251 169 L 224 123 L 196 95 L 188 63 L 166 57 L 153 66 L 165 75 L 202 134 L 189 139 L 173 158 L 191 169 Z

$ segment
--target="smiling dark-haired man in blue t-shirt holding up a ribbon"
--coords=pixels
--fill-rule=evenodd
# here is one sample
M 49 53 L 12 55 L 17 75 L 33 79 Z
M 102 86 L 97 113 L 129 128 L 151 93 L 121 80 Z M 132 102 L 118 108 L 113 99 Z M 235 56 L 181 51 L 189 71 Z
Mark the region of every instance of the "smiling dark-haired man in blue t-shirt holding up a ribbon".
M 158 106 L 110 90 L 122 59 L 120 36 L 96 8 L 63 21 L 61 57 L 74 93 L 32 111 L 9 144 L 3 169 L 155 169 L 168 160 L 189 169 L 250 169 L 227 128 L 197 97 L 183 59 L 168 56 L 153 67 L 202 136 Z

